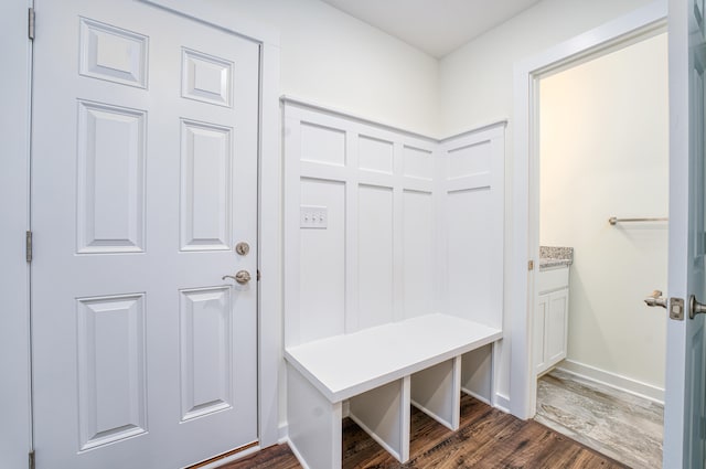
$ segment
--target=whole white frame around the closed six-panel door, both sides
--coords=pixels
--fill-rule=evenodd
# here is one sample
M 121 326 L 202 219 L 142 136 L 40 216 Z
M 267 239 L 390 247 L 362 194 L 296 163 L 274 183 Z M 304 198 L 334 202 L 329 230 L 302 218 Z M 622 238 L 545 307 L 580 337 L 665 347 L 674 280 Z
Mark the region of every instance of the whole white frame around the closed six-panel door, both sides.
M 279 443 L 279 367 L 281 362 L 281 158 L 279 120 L 279 33 L 275 29 L 233 14 L 221 3 L 194 4 L 189 0 L 138 0 L 247 38 L 259 45 L 258 139 L 258 446 Z M 24 232 L 30 226 L 31 82 L 32 42 L 26 35 L 28 8 L 32 0 L 3 4 L 0 26 L 9 32 L 6 46 L 10 86 L 0 87 L 6 104 L 2 137 L 9 157 L 0 172 L 0 258 L 3 259 L 0 292 L 0 370 L 4 379 L 0 398 L 8 412 L 0 422 L 2 463 L 22 467 L 32 450 L 30 265 L 25 260 Z M 6 14 L 8 13 L 8 14 Z M 41 11 L 38 11 L 41 18 Z M 41 23 L 40 23 L 41 24 Z M 41 25 L 38 30 L 41 35 Z M 267 216 L 261 216 L 267 214 Z M 270 214 L 274 214 L 271 216 Z M 36 234 L 35 234 L 36 235 Z M 7 262 L 4 259 L 8 259 Z M 3 358 L 12 360 L 6 365 Z M 6 374 L 7 373 L 7 374 Z M 10 384 L 12 387 L 10 387 Z M 8 436 L 8 438 L 6 438 Z M 216 455 L 214 455 L 216 456 Z M 228 459 L 234 459 L 236 455 Z M 218 463 L 225 462 L 222 459 Z

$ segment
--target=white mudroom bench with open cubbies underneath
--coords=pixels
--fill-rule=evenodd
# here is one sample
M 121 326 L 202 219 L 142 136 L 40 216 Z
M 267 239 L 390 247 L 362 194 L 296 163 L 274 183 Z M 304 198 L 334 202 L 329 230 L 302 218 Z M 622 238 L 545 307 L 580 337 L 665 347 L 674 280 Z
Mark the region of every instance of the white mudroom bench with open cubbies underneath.
M 461 355 L 500 329 L 427 315 L 287 348 L 292 450 L 310 469 L 341 467 L 347 414 L 400 462 L 409 459 L 410 404 L 459 427 Z

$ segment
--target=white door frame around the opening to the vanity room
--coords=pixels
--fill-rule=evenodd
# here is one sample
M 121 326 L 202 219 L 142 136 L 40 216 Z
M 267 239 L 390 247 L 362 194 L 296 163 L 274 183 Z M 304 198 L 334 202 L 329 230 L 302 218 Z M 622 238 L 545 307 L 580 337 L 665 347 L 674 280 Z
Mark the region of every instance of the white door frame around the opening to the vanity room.
M 535 275 L 527 263 L 539 262 L 538 81 L 547 73 L 575 66 L 597 54 L 666 31 L 667 2 L 657 0 L 599 28 L 517 62 L 514 67 L 514 156 L 510 290 L 510 411 L 526 419 L 536 412 L 533 358 Z

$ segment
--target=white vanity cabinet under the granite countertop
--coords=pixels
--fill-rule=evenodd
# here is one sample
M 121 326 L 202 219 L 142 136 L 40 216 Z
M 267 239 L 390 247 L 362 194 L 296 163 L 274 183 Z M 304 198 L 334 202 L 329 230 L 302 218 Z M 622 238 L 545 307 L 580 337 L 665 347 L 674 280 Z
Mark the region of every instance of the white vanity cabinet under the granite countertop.
M 539 270 L 534 308 L 534 363 L 539 375 L 566 358 L 569 267 Z

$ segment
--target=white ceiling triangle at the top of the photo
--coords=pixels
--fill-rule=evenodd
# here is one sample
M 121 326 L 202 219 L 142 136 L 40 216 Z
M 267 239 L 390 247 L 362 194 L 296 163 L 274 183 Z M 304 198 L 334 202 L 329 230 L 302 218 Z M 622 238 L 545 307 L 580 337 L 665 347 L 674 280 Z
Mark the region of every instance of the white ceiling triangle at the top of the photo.
M 440 58 L 539 0 L 323 0 Z

